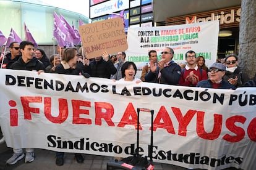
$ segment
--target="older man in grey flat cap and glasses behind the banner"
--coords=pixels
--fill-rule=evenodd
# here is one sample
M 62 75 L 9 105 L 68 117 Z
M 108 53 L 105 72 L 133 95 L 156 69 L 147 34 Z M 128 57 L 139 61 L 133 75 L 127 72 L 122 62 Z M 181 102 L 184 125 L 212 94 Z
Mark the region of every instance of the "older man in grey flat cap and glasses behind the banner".
M 208 73 L 209 79 L 199 81 L 197 87 L 206 87 L 213 89 L 236 89 L 232 84 L 223 81 L 226 67 L 222 63 L 213 63 Z

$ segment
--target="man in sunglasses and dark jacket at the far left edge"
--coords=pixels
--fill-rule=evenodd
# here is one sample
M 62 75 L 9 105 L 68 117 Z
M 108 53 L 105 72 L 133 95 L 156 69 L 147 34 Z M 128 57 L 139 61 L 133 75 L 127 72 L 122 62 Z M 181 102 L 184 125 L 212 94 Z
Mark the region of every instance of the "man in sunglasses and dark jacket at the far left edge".
M 2 62 L 2 68 L 10 68 L 11 65 L 16 62 L 20 56 L 20 44 L 17 41 L 11 42 L 9 45 L 9 54 L 6 54 L 4 61 Z

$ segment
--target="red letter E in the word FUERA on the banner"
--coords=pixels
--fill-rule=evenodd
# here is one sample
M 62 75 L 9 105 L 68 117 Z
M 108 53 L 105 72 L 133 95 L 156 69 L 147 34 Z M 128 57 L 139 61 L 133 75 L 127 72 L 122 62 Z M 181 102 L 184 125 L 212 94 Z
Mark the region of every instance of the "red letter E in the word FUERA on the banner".
M 74 124 L 92 124 L 92 119 L 80 118 L 80 114 L 89 115 L 89 110 L 80 109 L 82 107 L 91 107 L 91 102 L 83 100 L 71 100 L 73 107 L 73 121 Z

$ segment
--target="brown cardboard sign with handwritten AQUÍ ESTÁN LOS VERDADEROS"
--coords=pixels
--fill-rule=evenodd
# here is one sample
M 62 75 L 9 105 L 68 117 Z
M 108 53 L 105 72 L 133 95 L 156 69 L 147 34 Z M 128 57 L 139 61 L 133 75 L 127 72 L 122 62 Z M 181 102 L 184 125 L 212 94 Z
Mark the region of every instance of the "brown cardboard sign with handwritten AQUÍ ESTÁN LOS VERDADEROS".
M 83 51 L 88 59 L 101 56 L 103 51 L 112 54 L 126 51 L 128 48 L 124 23 L 121 18 L 81 25 L 79 33 Z

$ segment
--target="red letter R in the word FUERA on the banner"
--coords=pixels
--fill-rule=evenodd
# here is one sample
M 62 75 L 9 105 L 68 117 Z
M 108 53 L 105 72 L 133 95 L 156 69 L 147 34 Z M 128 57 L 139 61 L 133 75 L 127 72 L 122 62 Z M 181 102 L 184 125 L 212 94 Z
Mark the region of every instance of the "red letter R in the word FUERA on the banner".
M 103 112 L 103 109 L 106 110 Z M 110 103 L 95 102 L 95 124 L 101 125 L 101 119 L 105 119 L 108 126 L 114 126 L 111 118 L 114 116 L 114 107 Z

